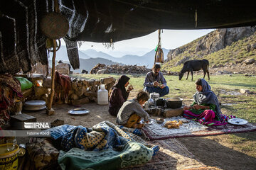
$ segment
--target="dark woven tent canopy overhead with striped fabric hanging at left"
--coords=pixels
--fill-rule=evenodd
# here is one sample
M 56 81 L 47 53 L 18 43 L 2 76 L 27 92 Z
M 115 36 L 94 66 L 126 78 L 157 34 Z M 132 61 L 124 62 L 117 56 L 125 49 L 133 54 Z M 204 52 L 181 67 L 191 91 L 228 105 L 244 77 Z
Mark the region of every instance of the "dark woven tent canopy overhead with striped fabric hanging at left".
M 58 0 L 68 19 L 68 56 L 79 67 L 77 41 L 117 42 L 158 29 L 233 28 L 256 25 L 254 1 L 238 0 Z M 0 73 L 29 72 L 48 64 L 40 22 L 54 0 L 0 1 Z M 71 56 L 72 55 L 72 56 Z

